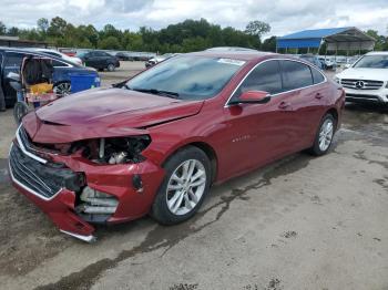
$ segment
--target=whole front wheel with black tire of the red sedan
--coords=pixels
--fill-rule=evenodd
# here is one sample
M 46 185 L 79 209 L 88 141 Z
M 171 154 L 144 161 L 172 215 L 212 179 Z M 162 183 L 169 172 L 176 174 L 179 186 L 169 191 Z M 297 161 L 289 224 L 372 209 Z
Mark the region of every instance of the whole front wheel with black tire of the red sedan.
M 166 175 L 156 193 L 151 216 L 162 225 L 175 225 L 193 217 L 208 194 L 211 162 L 203 151 L 188 146 L 176 152 L 164 169 Z

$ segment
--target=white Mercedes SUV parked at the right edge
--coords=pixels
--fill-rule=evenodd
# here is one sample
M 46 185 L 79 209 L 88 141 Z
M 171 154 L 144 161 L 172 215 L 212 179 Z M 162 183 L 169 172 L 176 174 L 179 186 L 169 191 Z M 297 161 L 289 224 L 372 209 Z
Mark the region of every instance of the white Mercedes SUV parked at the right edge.
M 388 104 L 388 52 L 365 54 L 335 80 L 344 86 L 348 102 Z

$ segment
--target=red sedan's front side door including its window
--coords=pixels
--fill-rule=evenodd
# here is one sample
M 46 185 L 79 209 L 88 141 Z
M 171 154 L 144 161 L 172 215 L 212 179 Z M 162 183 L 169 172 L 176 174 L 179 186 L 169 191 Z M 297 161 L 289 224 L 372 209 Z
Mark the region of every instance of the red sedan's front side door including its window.
M 225 176 L 238 175 L 274 160 L 294 142 L 289 131 L 293 107 L 288 103 L 288 93 L 282 93 L 279 62 L 270 60 L 258 64 L 232 100 L 245 91 L 266 91 L 272 97 L 266 104 L 238 104 L 224 108 L 226 134 L 222 151 L 223 156 L 227 156 L 223 160 Z

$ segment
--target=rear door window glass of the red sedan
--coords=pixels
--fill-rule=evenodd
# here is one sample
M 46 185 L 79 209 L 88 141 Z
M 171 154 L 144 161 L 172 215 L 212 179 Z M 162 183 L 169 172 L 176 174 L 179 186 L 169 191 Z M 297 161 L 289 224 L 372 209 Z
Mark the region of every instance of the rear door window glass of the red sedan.
M 283 90 L 290 91 L 313 84 L 308 65 L 295 61 L 282 61 Z

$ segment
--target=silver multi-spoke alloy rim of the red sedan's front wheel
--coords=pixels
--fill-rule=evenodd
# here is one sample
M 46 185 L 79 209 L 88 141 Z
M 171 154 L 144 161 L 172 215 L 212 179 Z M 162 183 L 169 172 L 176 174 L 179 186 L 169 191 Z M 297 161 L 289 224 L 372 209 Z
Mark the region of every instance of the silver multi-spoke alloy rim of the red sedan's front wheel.
M 197 159 L 182 163 L 170 177 L 166 201 L 170 211 L 181 216 L 192 211 L 206 187 L 206 170 Z

